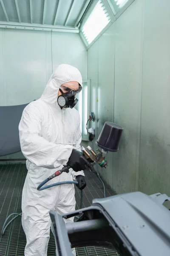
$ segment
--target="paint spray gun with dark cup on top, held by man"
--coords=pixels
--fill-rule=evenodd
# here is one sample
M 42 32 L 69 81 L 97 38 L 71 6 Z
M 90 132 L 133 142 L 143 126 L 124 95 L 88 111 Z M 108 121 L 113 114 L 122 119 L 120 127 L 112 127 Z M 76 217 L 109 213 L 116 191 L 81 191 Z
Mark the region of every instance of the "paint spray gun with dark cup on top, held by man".
M 105 156 L 107 155 L 108 151 L 118 151 L 122 131 L 123 128 L 121 126 L 116 125 L 113 122 L 105 122 L 99 138 L 96 141 L 96 145 L 98 145 L 99 148 L 102 148 L 102 151 L 97 148 L 98 152 L 96 153 L 90 146 L 88 146 L 87 149 L 82 147 L 81 149 L 84 156 L 93 165 L 99 164 L 100 167 L 106 168 L 108 161 L 105 159 Z

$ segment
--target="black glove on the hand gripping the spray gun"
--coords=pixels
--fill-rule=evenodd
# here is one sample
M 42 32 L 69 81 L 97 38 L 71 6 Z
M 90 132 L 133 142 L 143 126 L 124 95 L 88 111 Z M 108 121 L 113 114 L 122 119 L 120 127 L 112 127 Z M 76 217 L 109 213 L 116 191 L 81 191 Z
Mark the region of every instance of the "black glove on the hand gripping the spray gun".
M 91 169 L 91 171 L 93 170 L 92 164 L 88 162 L 83 153 L 75 149 L 72 151 L 67 165 L 70 166 L 74 172 L 79 172 L 81 170 L 84 171 L 87 166 Z

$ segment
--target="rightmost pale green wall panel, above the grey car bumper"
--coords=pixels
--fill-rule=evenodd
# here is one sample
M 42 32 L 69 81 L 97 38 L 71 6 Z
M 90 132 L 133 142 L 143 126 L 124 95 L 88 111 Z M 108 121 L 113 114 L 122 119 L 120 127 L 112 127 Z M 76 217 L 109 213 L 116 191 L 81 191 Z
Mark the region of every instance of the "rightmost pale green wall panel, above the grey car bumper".
M 143 54 L 139 190 L 170 195 L 170 1 L 145 0 Z

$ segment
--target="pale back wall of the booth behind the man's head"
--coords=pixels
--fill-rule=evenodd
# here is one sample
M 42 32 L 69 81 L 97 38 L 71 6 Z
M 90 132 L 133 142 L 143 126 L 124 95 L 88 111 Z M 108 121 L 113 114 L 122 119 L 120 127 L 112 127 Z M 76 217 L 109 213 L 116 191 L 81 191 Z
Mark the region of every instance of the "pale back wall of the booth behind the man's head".
M 38 99 L 52 71 L 62 63 L 77 67 L 87 79 L 87 50 L 78 34 L 0 29 L 0 106 Z

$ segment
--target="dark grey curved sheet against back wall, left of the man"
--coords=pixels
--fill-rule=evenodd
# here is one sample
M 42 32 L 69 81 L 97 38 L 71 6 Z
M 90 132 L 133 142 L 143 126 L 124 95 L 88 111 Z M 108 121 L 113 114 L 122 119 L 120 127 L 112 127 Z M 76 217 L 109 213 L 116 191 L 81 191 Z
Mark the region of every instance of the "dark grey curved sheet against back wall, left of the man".
M 0 156 L 21 151 L 18 125 L 26 105 L 0 106 Z

